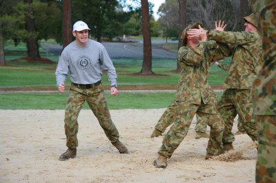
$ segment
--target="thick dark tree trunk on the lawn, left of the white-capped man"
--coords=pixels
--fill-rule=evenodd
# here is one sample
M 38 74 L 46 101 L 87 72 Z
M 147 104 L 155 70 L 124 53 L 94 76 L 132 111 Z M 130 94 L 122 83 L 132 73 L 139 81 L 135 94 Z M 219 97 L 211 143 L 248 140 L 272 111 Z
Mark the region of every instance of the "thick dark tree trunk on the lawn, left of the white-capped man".
M 37 41 L 37 36 L 34 28 L 34 19 L 33 17 L 33 9 L 30 6 L 32 4 L 32 0 L 24 0 L 24 3 L 28 3 L 28 8 L 26 8 L 26 30 L 30 34 L 26 39 L 27 42 L 27 52 L 28 57 L 31 61 L 38 61 L 40 58 L 39 55 L 39 44 Z

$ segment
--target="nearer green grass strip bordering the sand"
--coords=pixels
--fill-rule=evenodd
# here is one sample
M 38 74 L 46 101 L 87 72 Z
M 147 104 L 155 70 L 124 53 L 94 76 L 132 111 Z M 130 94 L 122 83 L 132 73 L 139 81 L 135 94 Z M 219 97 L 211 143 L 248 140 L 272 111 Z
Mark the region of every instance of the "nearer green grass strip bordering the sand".
M 109 109 L 158 109 L 166 108 L 175 93 L 129 94 L 111 96 L 106 91 Z M 217 93 L 220 97 L 221 93 Z M 0 109 L 65 109 L 68 93 L 0 94 Z M 87 103 L 83 109 L 89 109 Z

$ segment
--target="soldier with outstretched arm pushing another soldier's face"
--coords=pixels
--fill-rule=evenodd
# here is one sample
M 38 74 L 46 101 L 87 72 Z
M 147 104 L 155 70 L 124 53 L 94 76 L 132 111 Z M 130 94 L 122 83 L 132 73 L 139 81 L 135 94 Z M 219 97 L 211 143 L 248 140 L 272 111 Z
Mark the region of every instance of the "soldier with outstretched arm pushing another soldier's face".
M 243 127 L 253 141 L 257 141 L 256 123 L 253 118 L 253 103 L 251 89 L 253 80 L 263 64 L 262 43 L 257 32 L 253 14 L 244 17 L 246 23 L 244 32 L 225 32 L 217 30 L 201 31 L 194 29 L 188 34 L 199 37 L 199 34 L 208 36 L 208 39 L 233 45 L 233 56 L 224 80 L 224 93 L 217 108 L 224 120 L 224 151 L 233 149 L 235 136 L 232 133 L 233 118 L 239 114 Z

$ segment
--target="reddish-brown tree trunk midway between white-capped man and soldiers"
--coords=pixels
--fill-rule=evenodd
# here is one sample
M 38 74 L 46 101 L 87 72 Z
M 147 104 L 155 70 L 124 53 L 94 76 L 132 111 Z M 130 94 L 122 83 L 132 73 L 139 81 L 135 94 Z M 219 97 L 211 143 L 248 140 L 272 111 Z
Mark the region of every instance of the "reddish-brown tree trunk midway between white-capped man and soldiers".
M 141 74 L 149 75 L 152 72 L 152 46 L 150 38 L 150 15 L 148 10 L 148 0 L 141 0 L 141 14 L 143 23 L 144 59 Z

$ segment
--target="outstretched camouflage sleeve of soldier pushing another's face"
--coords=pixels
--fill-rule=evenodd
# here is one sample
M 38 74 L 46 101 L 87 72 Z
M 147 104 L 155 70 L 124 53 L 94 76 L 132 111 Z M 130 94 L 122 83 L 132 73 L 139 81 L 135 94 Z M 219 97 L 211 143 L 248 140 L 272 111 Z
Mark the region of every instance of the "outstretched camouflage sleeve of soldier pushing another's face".
M 208 31 L 208 39 L 214 40 L 220 43 L 228 43 L 233 45 L 245 45 L 248 43 L 254 43 L 259 39 L 257 32 L 229 32 L 210 30 Z

